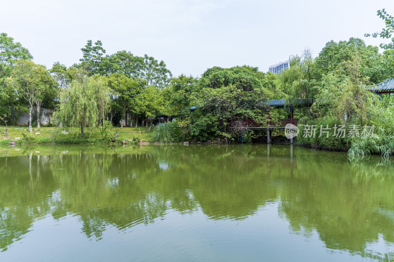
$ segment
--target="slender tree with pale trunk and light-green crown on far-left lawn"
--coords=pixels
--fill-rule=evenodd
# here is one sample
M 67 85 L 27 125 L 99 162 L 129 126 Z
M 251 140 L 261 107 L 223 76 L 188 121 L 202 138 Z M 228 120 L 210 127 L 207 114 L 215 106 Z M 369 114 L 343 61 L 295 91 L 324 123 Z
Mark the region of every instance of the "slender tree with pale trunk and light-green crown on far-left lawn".
M 49 82 L 48 73 L 43 65 L 34 64 L 32 61 L 23 59 L 15 62 L 10 77 L 7 79 L 7 84 L 14 87 L 18 96 L 24 98 L 29 103 L 30 133 L 33 133 L 33 104 L 36 103 L 37 99 L 42 101 L 41 94 Z

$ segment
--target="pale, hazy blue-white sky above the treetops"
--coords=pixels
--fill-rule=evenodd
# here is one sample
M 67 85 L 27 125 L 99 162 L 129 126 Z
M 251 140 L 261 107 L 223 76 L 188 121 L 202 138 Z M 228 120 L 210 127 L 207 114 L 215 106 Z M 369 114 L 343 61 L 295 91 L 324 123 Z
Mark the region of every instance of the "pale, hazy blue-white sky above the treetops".
M 330 40 L 379 45 L 363 35 L 384 27 L 383 8 L 394 15 L 394 0 L 12 0 L 1 3 L 0 32 L 47 68 L 79 62 L 91 39 L 106 54 L 147 54 L 173 76 L 198 77 L 213 66 L 266 72 L 305 48 L 316 57 Z

